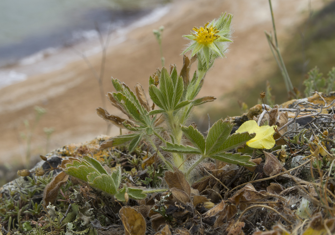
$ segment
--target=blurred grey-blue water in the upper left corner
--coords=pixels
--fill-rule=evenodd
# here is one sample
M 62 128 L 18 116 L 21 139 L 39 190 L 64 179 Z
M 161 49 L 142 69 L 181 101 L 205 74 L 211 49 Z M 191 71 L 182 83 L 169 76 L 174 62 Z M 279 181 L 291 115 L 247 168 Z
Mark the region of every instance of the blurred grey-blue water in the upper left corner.
M 1 0 L 0 67 L 127 25 L 162 0 Z M 36 58 L 35 58 L 36 59 Z M 33 63 L 27 58 L 23 64 Z

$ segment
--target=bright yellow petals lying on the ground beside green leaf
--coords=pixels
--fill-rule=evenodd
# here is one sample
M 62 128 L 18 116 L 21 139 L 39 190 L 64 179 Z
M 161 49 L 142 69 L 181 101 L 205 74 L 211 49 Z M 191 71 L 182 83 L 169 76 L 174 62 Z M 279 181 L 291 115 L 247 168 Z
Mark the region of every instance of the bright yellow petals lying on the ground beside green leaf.
M 273 138 L 275 126 L 258 126 L 255 120 L 246 121 L 243 123 L 236 133 L 248 131 L 256 133 L 256 136 L 247 142 L 247 145 L 256 149 L 271 149 L 275 145 Z

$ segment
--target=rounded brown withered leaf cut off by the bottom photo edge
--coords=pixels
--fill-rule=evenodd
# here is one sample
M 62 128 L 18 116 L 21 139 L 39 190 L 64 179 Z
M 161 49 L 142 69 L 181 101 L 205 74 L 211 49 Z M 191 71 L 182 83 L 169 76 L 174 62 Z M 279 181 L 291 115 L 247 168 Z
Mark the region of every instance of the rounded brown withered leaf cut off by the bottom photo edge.
M 126 206 L 121 208 L 119 215 L 125 229 L 125 235 L 145 235 L 146 223 L 141 213 Z

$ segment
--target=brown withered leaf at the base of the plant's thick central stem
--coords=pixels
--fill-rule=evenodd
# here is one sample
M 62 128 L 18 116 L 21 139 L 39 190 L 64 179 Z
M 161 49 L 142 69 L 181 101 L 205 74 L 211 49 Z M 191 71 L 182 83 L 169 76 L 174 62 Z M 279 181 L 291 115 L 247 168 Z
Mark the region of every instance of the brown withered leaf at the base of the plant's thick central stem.
M 187 195 L 190 197 L 191 194 L 191 186 L 189 182 L 185 179 L 185 175 L 183 172 L 178 170 L 177 168 L 174 168 L 175 172 L 167 171 L 165 172 L 165 181 L 169 188 L 178 188 L 180 190 L 183 190 L 187 193 Z

